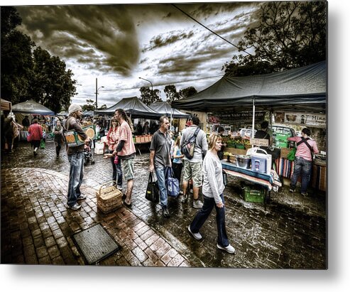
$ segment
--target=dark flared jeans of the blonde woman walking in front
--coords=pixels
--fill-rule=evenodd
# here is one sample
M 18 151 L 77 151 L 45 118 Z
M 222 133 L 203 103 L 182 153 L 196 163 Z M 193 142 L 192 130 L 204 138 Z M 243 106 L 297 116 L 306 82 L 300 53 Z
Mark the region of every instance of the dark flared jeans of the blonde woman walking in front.
M 225 207 L 217 207 L 214 198 L 208 198 L 205 195 L 203 195 L 203 198 L 203 207 L 197 212 L 195 219 L 192 220 L 190 229 L 193 233 L 198 233 L 215 206 L 215 210 L 217 211 L 217 243 L 222 247 L 227 247 L 229 245 L 229 239 L 226 233 Z M 222 202 L 225 203 L 223 194 L 220 195 L 220 198 L 222 198 Z

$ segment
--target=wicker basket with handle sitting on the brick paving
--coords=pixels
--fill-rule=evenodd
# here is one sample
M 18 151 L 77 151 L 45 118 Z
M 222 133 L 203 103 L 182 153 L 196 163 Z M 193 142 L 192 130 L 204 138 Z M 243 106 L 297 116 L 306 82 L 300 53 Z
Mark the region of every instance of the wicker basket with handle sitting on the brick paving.
M 121 207 L 122 193 L 114 185 L 114 182 L 108 182 L 101 185 L 99 191 L 96 192 L 97 208 L 104 213 L 109 213 Z

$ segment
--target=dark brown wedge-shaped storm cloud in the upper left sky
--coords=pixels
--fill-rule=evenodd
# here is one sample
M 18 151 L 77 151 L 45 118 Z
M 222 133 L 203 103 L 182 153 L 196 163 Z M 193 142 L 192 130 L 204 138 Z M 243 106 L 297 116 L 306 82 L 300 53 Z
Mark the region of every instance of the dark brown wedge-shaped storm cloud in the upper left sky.
M 87 55 L 84 60 L 90 59 L 96 64 L 95 69 L 111 68 L 122 75 L 128 75 L 138 62 L 135 26 L 123 5 L 18 6 L 17 9 L 23 18 L 24 32 L 59 57 L 82 60 L 82 55 Z

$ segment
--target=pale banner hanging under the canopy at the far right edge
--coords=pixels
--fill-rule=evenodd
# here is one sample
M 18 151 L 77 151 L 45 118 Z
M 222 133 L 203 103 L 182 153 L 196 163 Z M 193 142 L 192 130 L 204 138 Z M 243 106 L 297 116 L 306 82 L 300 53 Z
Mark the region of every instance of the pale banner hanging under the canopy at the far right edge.
M 326 127 L 326 114 L 309 114 L 305 112 L 275 112 L 275 123 L 297 124 L 305 126 Z

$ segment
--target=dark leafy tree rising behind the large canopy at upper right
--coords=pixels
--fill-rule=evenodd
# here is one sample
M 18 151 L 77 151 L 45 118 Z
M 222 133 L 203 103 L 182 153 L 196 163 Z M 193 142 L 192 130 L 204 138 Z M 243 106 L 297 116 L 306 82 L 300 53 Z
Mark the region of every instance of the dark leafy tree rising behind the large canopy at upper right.
M 259 19 L 238 43 L 239 51 L 253 53 L 225 63 L 225 75 L 266 74 L 326 60 L 326 1 L 267 2 Z

